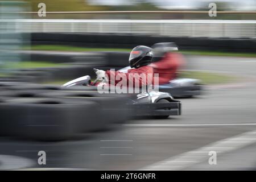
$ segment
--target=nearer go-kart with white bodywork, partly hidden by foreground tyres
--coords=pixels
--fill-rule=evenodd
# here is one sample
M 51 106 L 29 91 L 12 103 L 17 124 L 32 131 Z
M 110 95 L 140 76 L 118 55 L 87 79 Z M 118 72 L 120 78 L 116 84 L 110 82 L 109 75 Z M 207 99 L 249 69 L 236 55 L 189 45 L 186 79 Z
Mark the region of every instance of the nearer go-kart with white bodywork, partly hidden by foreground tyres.
M 94 70 L 95 71 L 95 70 Z M 97 90 L 96 83 L 98 80 L 91 81 L 89 75 L 76 78 L 63 85 L 65 88 L 73 86 L 86 86 L 92 90 Z M 100 82 L 100 84 L 104 82 Z M 106 83 L 105 83 L 106 84 Z M 112 93 L 109 93 L 112 94 Z M 117 93 L 115 93 L 117 94 Z M 153 117 L 156 119 L 168 118 L 170 115 L 181 114 L 181 102 L 174 100 L 169 93 L 146 91 L 139 94 L 122 93 L 127 96 L 125 105 L 129 105 L 135 117 Z

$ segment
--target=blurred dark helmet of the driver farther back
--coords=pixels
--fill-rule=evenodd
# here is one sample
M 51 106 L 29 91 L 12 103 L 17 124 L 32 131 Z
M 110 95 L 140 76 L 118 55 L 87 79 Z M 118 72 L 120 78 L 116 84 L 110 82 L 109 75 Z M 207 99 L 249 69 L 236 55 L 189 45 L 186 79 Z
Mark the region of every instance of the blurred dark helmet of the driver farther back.
M 154 53 L 154 61 L 163 57 L 167 52 L 178 51 L 177 45 L 173 42 L 156 43 L 152 46 Z

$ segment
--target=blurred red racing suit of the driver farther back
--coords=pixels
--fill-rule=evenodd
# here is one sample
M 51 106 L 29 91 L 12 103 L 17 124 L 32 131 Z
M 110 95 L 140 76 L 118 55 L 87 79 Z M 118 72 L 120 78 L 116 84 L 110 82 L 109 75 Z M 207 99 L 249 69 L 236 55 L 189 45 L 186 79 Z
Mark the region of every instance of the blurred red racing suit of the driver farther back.
M 154 73 L 159 74 L 159 85 L 167 84 L 177 76 L 177 71 L 184 64 L 183 56 L 179 53 L 166 53 L 163 59 L 150 66 L 154 68 Z

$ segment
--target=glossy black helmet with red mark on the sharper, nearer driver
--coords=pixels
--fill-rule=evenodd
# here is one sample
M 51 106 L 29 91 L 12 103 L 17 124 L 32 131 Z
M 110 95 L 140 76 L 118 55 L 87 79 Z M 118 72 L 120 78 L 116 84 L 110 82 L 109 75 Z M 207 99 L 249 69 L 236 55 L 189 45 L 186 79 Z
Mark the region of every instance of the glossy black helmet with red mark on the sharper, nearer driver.
M 139 68 L 151 63 L 152 48 L 147 46 L 136 46 L 131 50 L 129 64 L 131 68 Z

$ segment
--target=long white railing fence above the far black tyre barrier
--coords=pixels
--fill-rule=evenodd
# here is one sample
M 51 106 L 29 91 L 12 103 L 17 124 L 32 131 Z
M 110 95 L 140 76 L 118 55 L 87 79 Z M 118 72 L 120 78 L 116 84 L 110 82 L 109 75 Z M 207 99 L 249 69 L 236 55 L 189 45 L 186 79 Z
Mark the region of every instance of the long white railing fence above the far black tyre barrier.
M 16 19 L 17 32 L 97 32 L 144 35 L 255 38 L 256 20 Z

